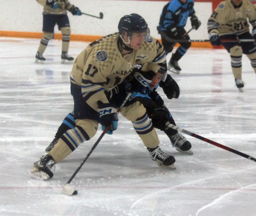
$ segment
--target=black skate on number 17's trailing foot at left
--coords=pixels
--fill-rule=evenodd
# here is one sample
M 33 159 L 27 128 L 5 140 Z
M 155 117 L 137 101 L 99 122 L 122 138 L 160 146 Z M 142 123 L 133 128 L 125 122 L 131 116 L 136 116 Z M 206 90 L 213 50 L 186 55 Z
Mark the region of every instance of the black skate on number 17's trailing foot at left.
M 34 167 L 29 173 L 35 179 L 49 180 L 52 178 L 54 170 L 55 162 L 50 154 L 46 154 L 34 163 Z

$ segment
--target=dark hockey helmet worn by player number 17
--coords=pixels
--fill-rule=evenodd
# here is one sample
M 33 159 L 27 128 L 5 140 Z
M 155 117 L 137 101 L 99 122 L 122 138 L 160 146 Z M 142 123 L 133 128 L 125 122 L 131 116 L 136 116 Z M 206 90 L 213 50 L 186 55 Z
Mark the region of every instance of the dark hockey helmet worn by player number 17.
M 147 23 L 145 19 L 137 13 L 123 16 L 118 24 L 118 31 L 122 35 L 125 31 L 127 33 L 133 32 L 147 32 Z

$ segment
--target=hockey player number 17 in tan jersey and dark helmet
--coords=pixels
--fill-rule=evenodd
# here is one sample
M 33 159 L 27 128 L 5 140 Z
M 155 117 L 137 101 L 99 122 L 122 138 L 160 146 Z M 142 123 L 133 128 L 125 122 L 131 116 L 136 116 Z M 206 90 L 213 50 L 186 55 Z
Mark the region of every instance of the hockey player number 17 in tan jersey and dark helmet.
M 76 126 L 63 134 L 53 149 L 34 163 L 30 171 L 33 177 L 51 179 L 52 168 L 61 162 L 81 143 L 90 140 L 97 131 L 111 125 L 107 133 L 117 129 L 117 108 L 110 103 L 108 91 L 122 83 L 135 64 L 146 64 L 146 70 L 166 73 L 166 54 L 163 46 L 150 36 L 147 23 L 138 14 L 123 16 L 113 33 L 88 45 L 76 58 L 72 72 L 71 94 L 74 99 Z M 150 83 L 143 72 L 142 82 Z M 141 85 L 138 82 L 138 85 Z M 175 169 L 175 159 L 159 147 L 159 139 L 139 102 L 121 110 L 121 114 L 133 123 L 152 160 L 158 165 Z

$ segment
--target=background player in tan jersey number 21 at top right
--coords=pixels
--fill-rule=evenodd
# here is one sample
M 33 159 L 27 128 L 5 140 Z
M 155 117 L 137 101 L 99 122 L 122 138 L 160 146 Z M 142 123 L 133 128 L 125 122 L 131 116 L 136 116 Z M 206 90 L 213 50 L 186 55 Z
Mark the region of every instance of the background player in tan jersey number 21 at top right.
M 249 23 L 252 25 L 252 34 L 249 32 Z M 230 53 L 231 68 L 236 86 L 243 91 L 242 55 L 246 54 L 256 73 L 256 46 L 248 43 L 221 43 L 221 39 L 256 40 L 256 8 L 249 0 L 226 0 L 219 4 L 208 20 L 210 42 L 214 46 L 223 45 Z

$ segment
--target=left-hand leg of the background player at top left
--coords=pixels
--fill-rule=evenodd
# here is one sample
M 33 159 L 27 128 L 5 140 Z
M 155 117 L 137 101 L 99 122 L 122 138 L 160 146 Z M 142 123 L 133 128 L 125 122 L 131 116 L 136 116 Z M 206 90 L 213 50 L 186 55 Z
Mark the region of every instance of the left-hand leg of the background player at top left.
M 42 54 L 45 52 L 46 47 L 53 37 L 54 32 L 54 26 L 56 24 L 56 16 L 47 14 L 43 15 L 43 21 L 42 21 L 42 38 L 40 41 L 40 45 L 38 47 L 36 56 L 35 56 L 35 62 L 36 63 L 43 63 L 46 61 L 46 58 L 42 56 Z

